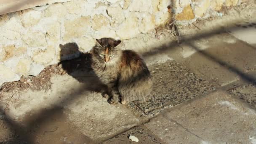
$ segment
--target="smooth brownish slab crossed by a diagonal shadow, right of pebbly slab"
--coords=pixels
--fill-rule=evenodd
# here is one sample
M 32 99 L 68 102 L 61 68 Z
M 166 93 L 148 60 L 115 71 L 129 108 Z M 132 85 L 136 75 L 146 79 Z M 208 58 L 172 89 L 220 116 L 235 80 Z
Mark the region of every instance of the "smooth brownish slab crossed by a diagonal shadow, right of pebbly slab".
M 205 45 L 207 48 L 201 51 L 200 47 Z M 184 43 L 181 47 L 198 52 L 178 62 L 220 86 L 241 77 L 246 79 L 247 72 L 256 71 L 256 49 L 227 33 L 210 37 L 206 42 Z

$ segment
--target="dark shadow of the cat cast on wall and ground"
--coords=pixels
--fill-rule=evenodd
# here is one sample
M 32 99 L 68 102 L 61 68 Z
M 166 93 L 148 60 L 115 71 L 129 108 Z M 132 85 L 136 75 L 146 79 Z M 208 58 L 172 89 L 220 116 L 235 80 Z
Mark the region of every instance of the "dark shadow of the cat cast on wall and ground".
M 83 83 L 85 91 L 101 92 L 102 89 L 106 88 L 93 72 L 90 53 L 79 51 L 76 43 L 60 44 L 59 47 L 61 49 L 61 62 L 59 62 L 59 65 L 67 74 Z M 72 59 L 74 56 L 77 58 Z

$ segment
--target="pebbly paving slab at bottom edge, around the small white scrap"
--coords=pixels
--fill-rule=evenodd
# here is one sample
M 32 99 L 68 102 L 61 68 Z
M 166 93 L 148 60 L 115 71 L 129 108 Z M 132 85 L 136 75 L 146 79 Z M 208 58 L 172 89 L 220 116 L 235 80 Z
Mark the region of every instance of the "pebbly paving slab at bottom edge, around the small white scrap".
M 163 144 L 154 133 L 149 131 L 143 125 L 130 129 L 124 133 L 115 136 L 112 139 L 104 141 L 102 144 L 132 144 L 135 143 L 129 139 L 129 136 L 135 136 L 139 139 L 136 144 Z

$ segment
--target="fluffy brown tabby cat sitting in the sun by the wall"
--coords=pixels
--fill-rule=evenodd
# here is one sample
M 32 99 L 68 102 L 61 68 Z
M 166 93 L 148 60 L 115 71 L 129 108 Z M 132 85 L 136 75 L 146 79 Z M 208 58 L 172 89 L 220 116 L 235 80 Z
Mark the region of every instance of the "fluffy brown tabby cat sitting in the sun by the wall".
M 91 50 L 93 71 L 106 85 L 101 94 L 108 97 L 109 104 L 146 100 L 152 91 L 149 69 L 139 54 L 121 50 L 120 43 L 104 37 L 96 39 Z

